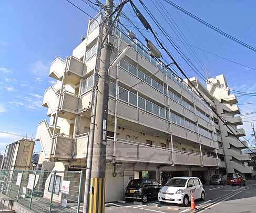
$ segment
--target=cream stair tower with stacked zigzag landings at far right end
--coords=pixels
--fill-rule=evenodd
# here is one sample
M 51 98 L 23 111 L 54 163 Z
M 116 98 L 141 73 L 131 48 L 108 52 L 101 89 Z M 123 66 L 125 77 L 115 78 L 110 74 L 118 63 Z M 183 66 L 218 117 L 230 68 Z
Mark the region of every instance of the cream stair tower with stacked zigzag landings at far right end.
M 250 176 L 252 173 L 252 167 L 248 166 L 248 162 L 251 159 L 250 155 L 242 154 L 241 151 L 248 146 L 247 142 L 241 139 L 242 136 L 245 136 L 245 131 L 241 127 L 238 127 L 243 124 L 243 121 L 240 116 L 234 116 L 240 114 L 238 105 L 235 105 L 238 103 L 238 100 L 234 94 L 230 94 L 230 89 L 223 74 L 216 78 L 208 79 L 207 89 L 214 97 L 214 105 L 216 106 L 218 114 L 227 121 L 232 132 L 237 137 L 240 137 L 240 140 L 244 144 L 239 142 L 237 137 L 231 133 L 227 126 L 218 119 L 217 124 L 220 126 L 220 135 L 227 164 L 227 172 L 242 173 Z

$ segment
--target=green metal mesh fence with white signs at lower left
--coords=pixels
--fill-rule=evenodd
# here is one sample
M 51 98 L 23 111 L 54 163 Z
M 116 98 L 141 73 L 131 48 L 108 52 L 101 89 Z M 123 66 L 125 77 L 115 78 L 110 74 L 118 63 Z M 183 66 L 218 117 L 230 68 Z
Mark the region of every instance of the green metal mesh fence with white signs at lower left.
M 83 171 L 1 170 L 0 193 L 33 212 L 83 212 L 82 178 Z

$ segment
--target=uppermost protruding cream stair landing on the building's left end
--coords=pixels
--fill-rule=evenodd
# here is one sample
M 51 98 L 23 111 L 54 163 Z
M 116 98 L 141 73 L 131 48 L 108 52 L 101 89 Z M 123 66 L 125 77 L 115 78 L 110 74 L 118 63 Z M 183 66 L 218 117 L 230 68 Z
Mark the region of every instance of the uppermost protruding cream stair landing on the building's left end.
M 66 78 L 64 84 L 76 85 L 80 82 L 80 78 L 83 76 L 84 63 L 74 56 L 70 56 L 66 62 L 62 58 L 57 57 L 50 66 L 49 76 L 57 80 L 62 80 L 63 74 L 66 68 Z

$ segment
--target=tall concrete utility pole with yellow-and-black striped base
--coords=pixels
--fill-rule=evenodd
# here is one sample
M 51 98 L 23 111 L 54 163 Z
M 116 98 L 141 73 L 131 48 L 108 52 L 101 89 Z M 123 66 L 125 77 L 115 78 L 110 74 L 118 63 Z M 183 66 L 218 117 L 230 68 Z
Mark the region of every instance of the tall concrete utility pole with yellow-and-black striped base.
M 108 36 L 109 27 L 112 19 L 109 16 L 112 13 L 114 0 L 106 0 L 105 19 L 103 24 L 103 38 Z M 111 33 L 109 34 L 111 36 Z M 98 95 L 96 104 L 93 165 L 90 181 L 90 201 L 89 212 L 105 212 L 105 173 L 106 173 L 106 143 L 107 143 L 107 118 L 108 118 L 108 93 L 110 56 L 113 44 L 107 38 L 101 44 Z

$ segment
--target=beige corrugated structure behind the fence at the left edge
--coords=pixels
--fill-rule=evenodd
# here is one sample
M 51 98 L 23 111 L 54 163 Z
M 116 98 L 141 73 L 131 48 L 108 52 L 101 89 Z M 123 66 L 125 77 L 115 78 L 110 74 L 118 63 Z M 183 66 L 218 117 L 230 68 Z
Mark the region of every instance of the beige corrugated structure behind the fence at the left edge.
M 8 145 L 2 169 L 29 170 L 35 142 L 21 139 Z

